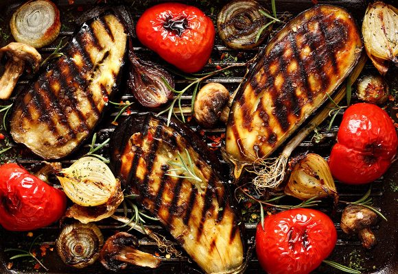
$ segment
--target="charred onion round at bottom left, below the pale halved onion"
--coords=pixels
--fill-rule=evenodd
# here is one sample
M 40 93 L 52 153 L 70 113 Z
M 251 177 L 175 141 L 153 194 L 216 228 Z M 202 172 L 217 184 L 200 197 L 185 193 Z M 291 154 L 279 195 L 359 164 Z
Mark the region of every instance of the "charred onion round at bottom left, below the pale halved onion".
M 57 252 L 62 261 L 78 269 L 93 264 L 100 256 L 102 245 L 104 236 L 93 223 L 67 225 L 56 241 Z

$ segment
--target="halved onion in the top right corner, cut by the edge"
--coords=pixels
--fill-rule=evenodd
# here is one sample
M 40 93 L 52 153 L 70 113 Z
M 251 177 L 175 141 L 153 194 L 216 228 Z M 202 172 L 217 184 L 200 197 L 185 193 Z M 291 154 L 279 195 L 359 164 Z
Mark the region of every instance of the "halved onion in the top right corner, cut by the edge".
M 366 53 L 377 71 L 386 75 L 392 61 L 398 66 L 398 9 L 381 1 L 370 3 L 362 23 Z

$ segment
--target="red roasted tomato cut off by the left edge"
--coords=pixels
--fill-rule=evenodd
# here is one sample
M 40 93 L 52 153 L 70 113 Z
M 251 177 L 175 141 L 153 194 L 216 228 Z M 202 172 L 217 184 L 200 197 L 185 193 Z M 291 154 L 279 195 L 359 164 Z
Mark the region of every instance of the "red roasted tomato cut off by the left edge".
M 18 164 L 0 166 L 0 224 L 27 231 L 54 223 L 65 213 L 67 197 Z

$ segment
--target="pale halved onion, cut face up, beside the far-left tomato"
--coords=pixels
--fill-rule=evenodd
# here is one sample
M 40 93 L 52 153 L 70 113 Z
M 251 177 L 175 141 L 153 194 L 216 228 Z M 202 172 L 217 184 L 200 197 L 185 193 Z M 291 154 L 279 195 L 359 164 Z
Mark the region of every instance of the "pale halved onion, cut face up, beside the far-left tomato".
M 107 203 L 120 186 L 108 166 L 94 157 L 80 158 L 60 174 L 57 177 L 65 194 L 79 206 Z

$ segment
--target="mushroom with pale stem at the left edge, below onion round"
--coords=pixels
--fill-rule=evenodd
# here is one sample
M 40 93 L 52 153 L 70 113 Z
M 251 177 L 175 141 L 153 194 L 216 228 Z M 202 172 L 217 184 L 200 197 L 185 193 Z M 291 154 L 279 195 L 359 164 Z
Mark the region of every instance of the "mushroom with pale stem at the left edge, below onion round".
M 3 58 L 4 54 L 7 55 L 8 61 L 0 79 L 0 99 L 6 100 L 10 98 L 19 76 L 25 69 L 26 62 L 36 70 L 40 64 L 41 55 L 34 47 L 19 42 L 10 42 L 7 46 L 2 47 L 0 58 Z

